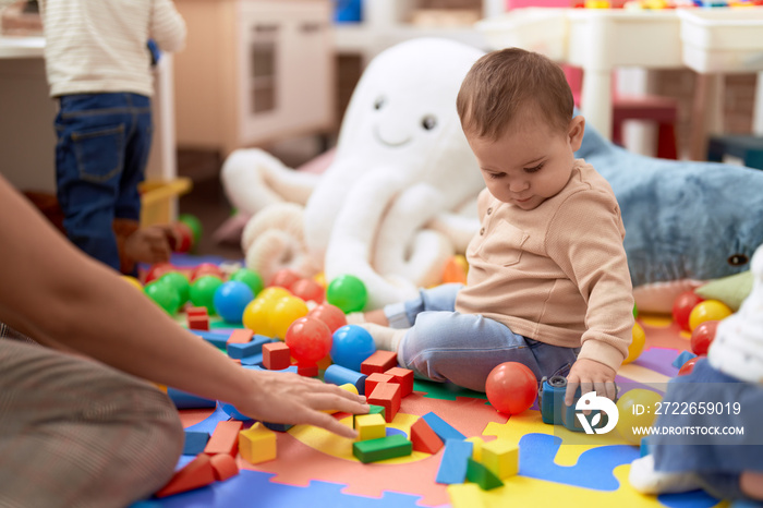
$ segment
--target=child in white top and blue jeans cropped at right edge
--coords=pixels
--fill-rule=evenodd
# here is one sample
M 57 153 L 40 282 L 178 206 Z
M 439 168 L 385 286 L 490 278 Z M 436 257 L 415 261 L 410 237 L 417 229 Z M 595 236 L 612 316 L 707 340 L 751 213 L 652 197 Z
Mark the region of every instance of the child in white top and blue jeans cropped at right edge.
M 763 246 L 750 266 L 752 291 L 718 324 L 707 358 L 668 384 L 654 423 L 667 432 L 631 464 L 639 492 L 763 500 Z

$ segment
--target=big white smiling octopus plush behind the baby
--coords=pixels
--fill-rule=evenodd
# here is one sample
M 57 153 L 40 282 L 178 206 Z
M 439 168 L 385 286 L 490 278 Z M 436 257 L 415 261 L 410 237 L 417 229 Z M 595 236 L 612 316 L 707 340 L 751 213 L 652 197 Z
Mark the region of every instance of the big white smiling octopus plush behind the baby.
M 292 171 L 258 149 L 231 154 L 222 182 L 231 203 L 252 215 L 242 237 L 247 266 L 266 279 L 283 267 L 303 276 L 323 269 L 327 280 L 354 275 L 366 286 L 367 309 L 439 282 L 476 228 L 484 182 L 456 96 L 482 55 L 437 38 L 379 53 L 352 95 L 323 174 Z

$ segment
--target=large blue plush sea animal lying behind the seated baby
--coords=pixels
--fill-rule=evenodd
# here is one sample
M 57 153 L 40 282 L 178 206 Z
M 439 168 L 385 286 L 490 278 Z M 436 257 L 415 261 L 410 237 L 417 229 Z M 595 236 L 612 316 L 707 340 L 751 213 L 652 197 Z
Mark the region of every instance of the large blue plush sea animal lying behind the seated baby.
M 576 155 L 617 195 L 640 310 L 669 312 L 681 291 L 750 268 L 763 243 L 763 171 L 641 156 L 591 125 Z

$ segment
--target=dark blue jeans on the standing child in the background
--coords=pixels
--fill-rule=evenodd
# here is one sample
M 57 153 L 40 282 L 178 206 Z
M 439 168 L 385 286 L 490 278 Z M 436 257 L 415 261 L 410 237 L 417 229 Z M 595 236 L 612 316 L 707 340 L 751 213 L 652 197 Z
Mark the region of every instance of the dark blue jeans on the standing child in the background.
M 58 201 L 69 239 L 119 270 L 114 218 L 140 220 L 152 145 L 152 101 L 137 94 L 60 97 L 56 117 Z

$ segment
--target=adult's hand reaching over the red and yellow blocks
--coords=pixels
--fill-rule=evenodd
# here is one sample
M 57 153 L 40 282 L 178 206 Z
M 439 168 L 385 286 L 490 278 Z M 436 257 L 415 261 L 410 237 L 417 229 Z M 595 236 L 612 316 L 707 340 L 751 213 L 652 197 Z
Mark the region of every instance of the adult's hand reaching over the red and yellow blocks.
M 336 385 L 293 373 L 250 371 L 252 390 L 242 400 L 231 401 L 242 413 L 271 423 L 315 425 L 342 437 L 355 438 L 358 432 L 342 425 L 325 410 L 365 414 L 365 397 Z

